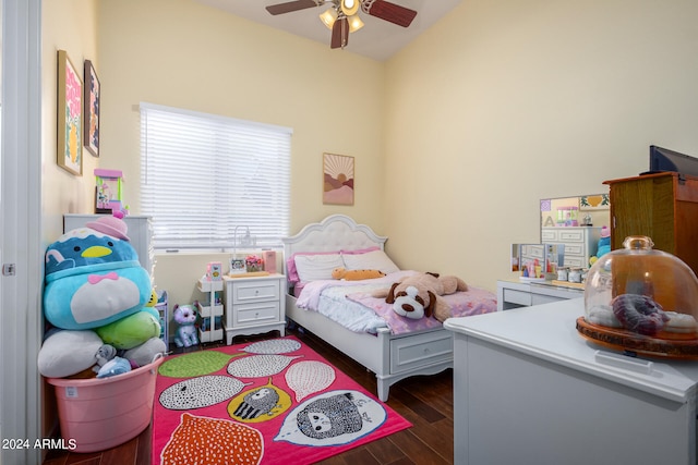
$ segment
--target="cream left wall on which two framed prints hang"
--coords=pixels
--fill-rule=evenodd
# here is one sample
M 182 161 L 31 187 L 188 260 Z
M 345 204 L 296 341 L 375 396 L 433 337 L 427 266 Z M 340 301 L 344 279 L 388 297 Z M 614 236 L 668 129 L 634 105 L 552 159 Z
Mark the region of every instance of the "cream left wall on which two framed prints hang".
M 83 74 L 83 61 L 97 57 L 97 0 L 44 0 L 41 76 L 41 159 L 44 231 L 47 245 L 63 232 L 63 213 L 94 212 L 94 169 L 98 159 L 83 150 L 83 175 L 76 176 L 56 162 L 57 52 L 65 50 Z

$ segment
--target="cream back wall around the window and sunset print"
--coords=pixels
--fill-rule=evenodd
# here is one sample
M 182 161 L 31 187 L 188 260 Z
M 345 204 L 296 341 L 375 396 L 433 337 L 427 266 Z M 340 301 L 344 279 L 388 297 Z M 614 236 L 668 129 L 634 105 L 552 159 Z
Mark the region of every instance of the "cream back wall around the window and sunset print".
M 342 212 L 384 229 L 384 65 L 192 0 L 100 0 L 100 167 L 139 213 L 141 101 L 293 129 L 291 231 Z M 322 154 L 356 161 L 354 206 L 322 204 Z M 155 282 L 190 303 L 207 259 L 158 256 Z M 227 256 L 222 257 L 227 262 Z

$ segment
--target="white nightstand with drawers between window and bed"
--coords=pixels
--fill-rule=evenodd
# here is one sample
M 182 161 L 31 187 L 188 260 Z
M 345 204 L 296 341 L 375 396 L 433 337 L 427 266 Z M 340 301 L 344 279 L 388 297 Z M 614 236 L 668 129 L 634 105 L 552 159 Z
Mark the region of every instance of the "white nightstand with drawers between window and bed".
M 226 343 L 239 334 L 286 330 L 286 277 L 224 277 Z

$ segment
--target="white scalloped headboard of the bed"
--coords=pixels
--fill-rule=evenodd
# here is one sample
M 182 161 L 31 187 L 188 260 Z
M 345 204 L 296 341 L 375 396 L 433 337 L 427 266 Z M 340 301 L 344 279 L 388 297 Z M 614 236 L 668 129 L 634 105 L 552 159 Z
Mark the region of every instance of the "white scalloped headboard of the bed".
M 378 246 L 386 236 L 377 235 L 365 224 L 357 224 L 346 215 L 330 215 L 318 223 L 310 223 L 296 235 L 284 238 L 284 271 L 286 260 L 298 252 L 335 252 Z

